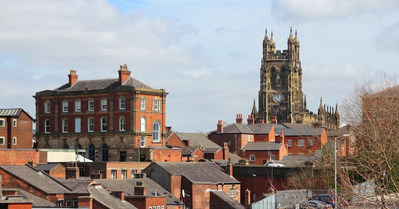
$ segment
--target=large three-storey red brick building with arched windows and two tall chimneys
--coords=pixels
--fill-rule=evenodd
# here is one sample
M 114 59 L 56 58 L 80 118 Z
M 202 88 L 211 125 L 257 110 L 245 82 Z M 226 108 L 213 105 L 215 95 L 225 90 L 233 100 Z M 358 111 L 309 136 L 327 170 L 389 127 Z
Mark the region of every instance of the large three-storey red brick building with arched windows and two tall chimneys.
M 39 148 L 86 151 L 93 161 L 137 161 L 138 147 L 165 146 L 166 96 L 130 77 L 126 64 L 119 78 L 69 82 L 37 92 L 36 140 Z

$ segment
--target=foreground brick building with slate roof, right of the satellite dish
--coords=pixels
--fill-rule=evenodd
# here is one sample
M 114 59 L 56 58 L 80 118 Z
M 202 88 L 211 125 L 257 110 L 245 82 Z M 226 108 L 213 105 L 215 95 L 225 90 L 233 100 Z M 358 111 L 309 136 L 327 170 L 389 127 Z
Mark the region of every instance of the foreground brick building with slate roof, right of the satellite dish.
M 227 165 L 227 174 L 213 162 L 153 162 L 144 173 L 172 193 L 180 197 L 182 189 L 188 197 L 183 201 L 192 209 L 209 208 L 211 190 L 220 190 L 240 202 L 240 182 L 233 178 L 233 166 Z M 207 203 L 204 205 L 204 202 Z

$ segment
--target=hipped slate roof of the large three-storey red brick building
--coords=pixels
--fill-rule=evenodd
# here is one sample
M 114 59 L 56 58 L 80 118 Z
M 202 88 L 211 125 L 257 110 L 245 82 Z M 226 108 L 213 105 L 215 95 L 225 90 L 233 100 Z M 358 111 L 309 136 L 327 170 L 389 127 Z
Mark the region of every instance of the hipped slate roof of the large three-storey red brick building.
M 90 90 L 113 90 L 119 85 L 119 78 L 111 79 L 100 79 L 100 80 L 78 80 L 72 87 L 69 87 L 69 83 L 64 84 L 53 91 L 58 92 L 74 92 L 74 91 L 84 91 L 86 88 Z M 148 88 L 152 89 L 150 86 L 144 84 L 143 82 L 137 80 L 136 78 L 128 78 L 122 86 L 131 86 L 138 88 Z

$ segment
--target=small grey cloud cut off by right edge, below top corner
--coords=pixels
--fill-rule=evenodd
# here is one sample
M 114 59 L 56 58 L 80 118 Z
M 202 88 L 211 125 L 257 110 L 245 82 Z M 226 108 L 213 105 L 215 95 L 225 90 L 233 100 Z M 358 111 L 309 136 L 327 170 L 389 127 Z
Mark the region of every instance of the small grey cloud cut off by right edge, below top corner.
M 374 40 L 380 49 L 399 52 L 399 22 L 386 26 Z

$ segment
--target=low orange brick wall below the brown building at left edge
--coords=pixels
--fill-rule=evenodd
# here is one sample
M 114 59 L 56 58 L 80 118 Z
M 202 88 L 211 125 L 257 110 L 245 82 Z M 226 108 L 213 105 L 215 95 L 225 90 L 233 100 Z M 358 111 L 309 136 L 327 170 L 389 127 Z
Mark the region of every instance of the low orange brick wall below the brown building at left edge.
M 24 165 L 28 161 L 39 162 L 40 152 L 34 149 L 30 150 L 0 149 L 0 156 L 1 156 L 0 165 Z

